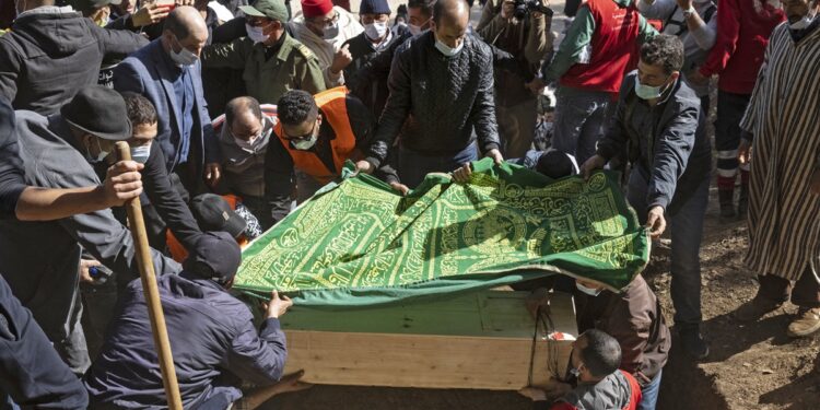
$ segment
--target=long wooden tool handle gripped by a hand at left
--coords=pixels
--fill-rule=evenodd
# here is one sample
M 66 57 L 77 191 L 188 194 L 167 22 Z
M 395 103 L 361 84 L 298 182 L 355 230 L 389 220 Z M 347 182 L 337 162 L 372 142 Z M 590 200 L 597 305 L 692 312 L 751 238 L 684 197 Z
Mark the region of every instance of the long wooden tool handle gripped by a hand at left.
M 117 157 L 119 161 L 131 160 L 131 149 L 125 141 L 117 142 Z M 160 370 L 162 371 L 162 383 L 165 387 L 165 397 L 168 399 L 168 409 L 183 410 L 183 400 L 179 396 L 179 385 L 176 380 L 174 370 L 174 356 L 171 354 L 168 342 L 168 330 L 165 328 L 165 315 L 160 303 L 160 290 L 156 288 L 156 274 L 154 262 L 151 258 L 151 248 L 148 246 L 148 233 L 145 222 L 142 220 L 142 206 L 140 198 L 133 198 L 126 202 L 128 211 L 128 225 L 131 229 L 133 244 L 137 247 L 137 266 L 140 268 L 142 290 L 145 293 L 148 315 L 151 319 L 151 330 L 154 335 L 154 347 L 160 358 Z

